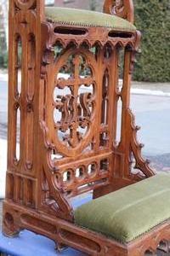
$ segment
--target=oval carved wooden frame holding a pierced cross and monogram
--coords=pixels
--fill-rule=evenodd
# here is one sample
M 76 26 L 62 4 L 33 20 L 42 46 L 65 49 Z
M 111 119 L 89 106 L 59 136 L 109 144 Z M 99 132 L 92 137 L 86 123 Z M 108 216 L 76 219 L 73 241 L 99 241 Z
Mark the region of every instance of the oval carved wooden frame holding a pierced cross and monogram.
M 68 50 L 54 65 L 51 119 L 54 144 L 61 154 L 80 154 L 94 136 L 96 62 L 86 51 Z M 49 126 L 49 125 L 48 125 Z M 51 129 L 51 128 L 49 128 Z

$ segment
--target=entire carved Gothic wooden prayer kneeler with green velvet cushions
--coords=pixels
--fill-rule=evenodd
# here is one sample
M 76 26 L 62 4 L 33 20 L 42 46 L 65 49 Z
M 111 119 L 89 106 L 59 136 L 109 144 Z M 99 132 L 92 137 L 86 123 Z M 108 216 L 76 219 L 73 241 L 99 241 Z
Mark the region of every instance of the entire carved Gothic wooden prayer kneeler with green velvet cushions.
M 170 177 L 141 157 L 129 109 L 132 1 L 105 1 L 106 14 L 9 3 L 3 233 L 32 230 L 89 255 L 168 250 Z M 74 210 L 88 191 L 94 200 Z

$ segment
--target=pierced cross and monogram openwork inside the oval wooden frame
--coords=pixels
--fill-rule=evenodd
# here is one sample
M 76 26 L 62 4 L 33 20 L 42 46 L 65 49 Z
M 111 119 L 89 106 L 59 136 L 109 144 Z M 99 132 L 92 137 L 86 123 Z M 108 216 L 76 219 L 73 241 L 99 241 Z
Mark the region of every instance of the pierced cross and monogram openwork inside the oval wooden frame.
M 58 74 L 55 80 L 55 91 L 56 94 L 59 90 L 63 93 L 54 96 L 55 110 L 60 113 L 59 121 L 55 122 L 55 129 L 62 143 L 76 148 L 91 126 L 94 112 L 94 84 L 91 84 L 93 74 L 86 60 L 78 54 L 71 55 L 66 65 L 61 67 L 60 72 L 61 76 Z M 62 74 L 64 74 L 63 77 Z M 65 79 L 65 76 L 68 78 Z M 86 92 L 86 87 L 92 92 Z M 59 113 L 54 111 L 54 119 Z

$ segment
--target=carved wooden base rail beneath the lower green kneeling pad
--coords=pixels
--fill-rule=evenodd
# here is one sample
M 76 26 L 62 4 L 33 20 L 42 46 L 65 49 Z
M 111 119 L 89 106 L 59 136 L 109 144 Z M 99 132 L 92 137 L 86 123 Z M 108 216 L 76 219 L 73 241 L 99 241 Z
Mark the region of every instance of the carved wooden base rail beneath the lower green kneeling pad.
M 13 207 L 12 211 L 11 206 Z M 22 229 L 31 230 L 54 240 L 59 251 L 69 246 L 95 256 L 141 256 L 147 255 L 149 252 L 150 255 L 155 255 L 157 249 L 168 253 L 169 228 L 170 223 L 168 222 L 160 224 L 144 236 L 123 245 L 112 238 L 82 229 L 61 218 L 52 218 L 43 212 L 35 212 L 8 201 L 3 203 L 3 232 L 5 236 L 17 236 Z

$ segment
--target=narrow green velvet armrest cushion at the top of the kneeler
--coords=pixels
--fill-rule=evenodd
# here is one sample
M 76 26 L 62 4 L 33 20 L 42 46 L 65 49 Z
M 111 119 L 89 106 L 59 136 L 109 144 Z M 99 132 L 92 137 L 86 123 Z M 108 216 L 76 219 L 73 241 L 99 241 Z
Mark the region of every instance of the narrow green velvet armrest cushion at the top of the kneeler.
M 94 11 L 82 9 L 70 9 L 59 7 L 46 7 L 47 20 L 75 26 L 101 26 L 111 28 L 115 31 L 134 32 L 135 26 L 114 15 L 106 15 Z

